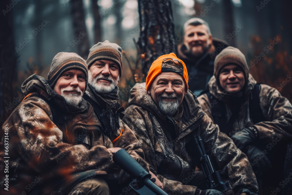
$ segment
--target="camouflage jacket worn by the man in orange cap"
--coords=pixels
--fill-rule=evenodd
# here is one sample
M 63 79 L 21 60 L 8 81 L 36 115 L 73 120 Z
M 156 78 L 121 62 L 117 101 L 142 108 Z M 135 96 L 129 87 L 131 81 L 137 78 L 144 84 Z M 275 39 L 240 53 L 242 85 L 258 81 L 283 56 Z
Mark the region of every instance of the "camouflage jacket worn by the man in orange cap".
M 187 178 L 196 167 L 192 137 L 201 136 L 206 152 L 233 183 L 233 189 L 258 190 L 256 177 L 244 153 L 236 148 L 218 126 L 204 114 L 196 96 L 190 91 L 172 118 L 163 115 L 146 92 L 146 84 L 131 89 L 129 107 L 123 121 L 135 132 L 145 159 L 159 175 L 168 193 L 195 194 Z M 169 136 L 172 129 L 176 138 Z M 189 184 L 189 185 L 187 185 Z

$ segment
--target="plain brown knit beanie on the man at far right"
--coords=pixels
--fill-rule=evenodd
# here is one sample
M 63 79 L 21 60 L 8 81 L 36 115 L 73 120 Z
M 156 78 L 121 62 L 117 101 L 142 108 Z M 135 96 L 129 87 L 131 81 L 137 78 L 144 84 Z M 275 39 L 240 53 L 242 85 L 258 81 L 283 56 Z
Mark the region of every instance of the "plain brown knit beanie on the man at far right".
M 239 49 L 229 46 L 223 49 L 215 58 L 214 75 L 217 82 L 219 82 L 221 69 L 224 66 L 230 64 L 238 65 L 240 68 L 242 68 L 245 81 L 248 80 L 249 68 L 246 63 L 244 54 Z

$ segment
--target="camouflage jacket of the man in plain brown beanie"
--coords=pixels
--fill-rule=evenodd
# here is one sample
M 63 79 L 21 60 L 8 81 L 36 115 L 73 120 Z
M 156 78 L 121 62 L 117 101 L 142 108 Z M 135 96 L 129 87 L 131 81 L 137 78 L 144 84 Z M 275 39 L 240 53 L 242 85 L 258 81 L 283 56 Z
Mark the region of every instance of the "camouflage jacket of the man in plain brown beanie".
M 279 138 L 292 141 L 292 105 L 274 87 L 260 84 L 260 107 L 265 121 L 257 124 L 253 123 L 249 113 L 249 99 L 255 85 L 256 80 L 249 74 L 248 83 L 244 92 L 244 101 L 239 105 L 239 114 L 233 123 L 229 136 L 232 136 L 241 129 L 254 125 L 258 129 L 259 138 L 267 144 Z M 211 95 L 225 103 L 227 110 L 226 117 L 229 120 L 232 116 L 230 96 L 226 95 L 226 93 L 224 95 L 224 92 L 218 87 L 214 76 L 208 82 L 208 87 Z M 213 120 L 208 96 L 202 94 L 198 97 L 198 101 L 202 110 Z

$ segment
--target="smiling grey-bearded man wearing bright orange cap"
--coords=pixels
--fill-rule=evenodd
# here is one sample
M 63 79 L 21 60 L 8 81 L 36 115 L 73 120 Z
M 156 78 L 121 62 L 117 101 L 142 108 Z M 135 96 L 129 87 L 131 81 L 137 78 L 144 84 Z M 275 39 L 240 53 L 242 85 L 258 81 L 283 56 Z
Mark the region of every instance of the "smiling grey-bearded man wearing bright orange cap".
M 193 138 L 200 136 L 207 154 L 232 183 L 227 194 L 255 194 L 258 184 L 246 155 L 204 114 L 187 82 L 185 63 L 171 53 L 152 63 L 146 83 L 131 89 L 123 121 L 135 132 L 145 160 L 167 193 L 222 194 L 198 188 L 203 185 L 195 170 Z

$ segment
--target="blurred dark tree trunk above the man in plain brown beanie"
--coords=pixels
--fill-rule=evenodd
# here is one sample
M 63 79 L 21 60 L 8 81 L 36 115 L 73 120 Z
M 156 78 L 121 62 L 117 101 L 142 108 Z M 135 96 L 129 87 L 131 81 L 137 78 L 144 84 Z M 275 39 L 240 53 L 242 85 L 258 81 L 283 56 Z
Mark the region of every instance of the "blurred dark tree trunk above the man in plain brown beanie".
M 231 0 L 223 0 L 223 26 L 224 34 L 232 34 L 234 31 L 234 14 L 233 14 L 233 5 Z M 232 35 L 233 36 L 233 35 Z M 228 43 L 230 46 L 236 47 L 236 38 L 231 39 Z

